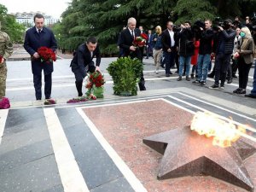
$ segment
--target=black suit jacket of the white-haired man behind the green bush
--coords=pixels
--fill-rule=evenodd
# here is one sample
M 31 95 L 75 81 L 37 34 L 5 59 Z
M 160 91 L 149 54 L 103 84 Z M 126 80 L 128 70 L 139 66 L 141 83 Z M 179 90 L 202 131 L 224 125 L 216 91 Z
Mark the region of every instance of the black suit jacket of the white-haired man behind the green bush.
M 135 38 L 141 36 L 141 31 L 137 28 L 134 29 L 134 33 L 135 33 L 134 34 Z M 130 55 L 131 58 L 137 57 L 138 59 L 142 60 L 143 59 L 142 49 L 137 48 L 136 51 L 130 50 L 133 40 L 134 39 L 131 36 L 131 32 L 128 27 L 120 33 L 119 47 L 124 50 L 122 56 Z

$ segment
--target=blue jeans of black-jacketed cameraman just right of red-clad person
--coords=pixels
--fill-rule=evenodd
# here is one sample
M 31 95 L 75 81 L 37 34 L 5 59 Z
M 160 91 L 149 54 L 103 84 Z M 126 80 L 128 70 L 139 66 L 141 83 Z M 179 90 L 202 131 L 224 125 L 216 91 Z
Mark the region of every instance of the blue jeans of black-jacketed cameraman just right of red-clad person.
M 198 55 L 197 59 L 197 80 L 199 81 L 207 81 L 207 73 L 208 73 L 208 67 L 209 63 L 211 61 L 211 55 Z

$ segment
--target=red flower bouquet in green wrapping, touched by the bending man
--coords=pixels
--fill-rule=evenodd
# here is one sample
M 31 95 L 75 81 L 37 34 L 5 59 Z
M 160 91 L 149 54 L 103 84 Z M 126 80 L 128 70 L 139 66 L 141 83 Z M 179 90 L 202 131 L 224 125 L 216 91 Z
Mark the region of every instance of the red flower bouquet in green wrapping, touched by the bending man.
M 104 84 L 105 80 L 101 72 L 96 71 L 94 73 L 89 73 L 87 84 L 85 85 L 85 88 L 87 89 L 86 96 L 90 99 L 94 99 L 94 96 L 96 96 L 96 98 L 103 98 Z

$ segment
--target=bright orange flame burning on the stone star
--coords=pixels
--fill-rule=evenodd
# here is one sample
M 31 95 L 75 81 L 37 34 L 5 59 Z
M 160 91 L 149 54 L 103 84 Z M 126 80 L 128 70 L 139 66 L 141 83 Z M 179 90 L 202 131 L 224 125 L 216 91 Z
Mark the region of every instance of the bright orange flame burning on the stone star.
M 230 147 L 241 136 L 241 133 L 245 132 L 242 127 L 236 129 L 236 125 L 231 123 L 231 119 L 225 121 L 219 119 L 216 114 L 202 112 L 195 113 L 190 129 L 199 135 L 212 137 L 212 144 L 222 148 Z

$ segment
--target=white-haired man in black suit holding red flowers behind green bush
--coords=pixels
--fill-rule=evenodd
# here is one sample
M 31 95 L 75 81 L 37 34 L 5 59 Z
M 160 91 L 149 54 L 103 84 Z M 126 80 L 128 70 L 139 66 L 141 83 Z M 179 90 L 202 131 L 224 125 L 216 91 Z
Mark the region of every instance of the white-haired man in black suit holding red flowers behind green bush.
M 142 49 L 132 45 L 134 38 L 139 37 L 141 35 L 141 31 L 138 28 L 136 28 L 136 22 L 136 19 L 133 17 L 128 19 L 126 29 L 123 30 L 120 34 L 119 47 L 124 50 L 123 56 L 131 56 L 131 58 L 137 58 L 143 63 Z M 138 84 L 140 90 L 146 90 L 143 73 L 141 74 L 141 79 Z

